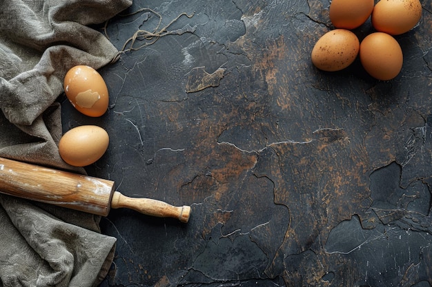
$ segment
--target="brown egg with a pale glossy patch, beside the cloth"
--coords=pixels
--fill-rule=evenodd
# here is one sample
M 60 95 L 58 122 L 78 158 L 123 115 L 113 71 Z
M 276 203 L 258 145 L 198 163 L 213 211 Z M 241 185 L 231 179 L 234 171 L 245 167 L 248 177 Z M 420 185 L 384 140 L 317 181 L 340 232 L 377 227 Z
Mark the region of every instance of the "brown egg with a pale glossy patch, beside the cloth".
M 102 116 L 108 109 L 106 83 L 92 67 L 72 67 L 66 73 L 63 87 L 70 103 L 86 116 Z

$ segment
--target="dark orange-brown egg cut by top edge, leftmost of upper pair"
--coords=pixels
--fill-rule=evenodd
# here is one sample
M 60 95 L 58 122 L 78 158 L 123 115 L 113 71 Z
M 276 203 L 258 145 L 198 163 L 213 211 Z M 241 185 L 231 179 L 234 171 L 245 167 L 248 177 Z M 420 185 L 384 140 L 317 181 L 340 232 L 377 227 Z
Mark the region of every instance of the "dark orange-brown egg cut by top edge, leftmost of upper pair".
M 373 0 L 333 0 L 330 4 L 330 20 L 335 28 L 354 29 L 371 16 Z

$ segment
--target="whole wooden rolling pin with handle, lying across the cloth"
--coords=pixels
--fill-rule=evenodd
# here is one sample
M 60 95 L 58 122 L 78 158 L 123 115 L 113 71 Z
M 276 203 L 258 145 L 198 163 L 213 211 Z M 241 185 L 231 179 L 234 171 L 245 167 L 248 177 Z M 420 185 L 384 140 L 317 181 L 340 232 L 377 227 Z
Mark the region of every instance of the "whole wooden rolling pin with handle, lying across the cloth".
M 106 216 L 110 208 L 128 208 L 156 217 L 188 222 L 190 206 L 172 206 L 150 198 L 128 198 L 115 182 L 0 158 L 0 193 Z

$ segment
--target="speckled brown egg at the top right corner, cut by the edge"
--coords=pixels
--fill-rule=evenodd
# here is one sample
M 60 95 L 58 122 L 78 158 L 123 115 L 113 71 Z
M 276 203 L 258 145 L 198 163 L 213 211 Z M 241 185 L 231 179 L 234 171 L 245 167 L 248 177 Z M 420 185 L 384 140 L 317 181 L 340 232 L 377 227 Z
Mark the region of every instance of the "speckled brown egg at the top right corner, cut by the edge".
M 422 17 L 419 0 L 381 0 L 372 12 L 372 25 L 380 32 L 398 35 L 408 32 Z

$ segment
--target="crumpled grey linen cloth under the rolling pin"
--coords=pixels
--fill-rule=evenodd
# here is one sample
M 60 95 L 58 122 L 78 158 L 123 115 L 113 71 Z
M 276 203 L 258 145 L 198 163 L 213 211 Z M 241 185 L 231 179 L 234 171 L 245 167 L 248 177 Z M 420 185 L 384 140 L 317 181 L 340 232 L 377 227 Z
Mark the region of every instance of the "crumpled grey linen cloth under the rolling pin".
M 85 173 L 57 148 L 63 77 L 74 65 L 95 69 L 117 49 L 90 28 L 131 0 L 0 0 L 0 156 Z M 100 217 L 0 195 L 0 286 L 97 286 L 115 238 Z

